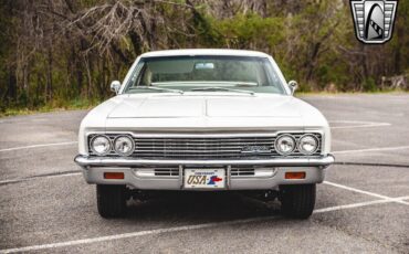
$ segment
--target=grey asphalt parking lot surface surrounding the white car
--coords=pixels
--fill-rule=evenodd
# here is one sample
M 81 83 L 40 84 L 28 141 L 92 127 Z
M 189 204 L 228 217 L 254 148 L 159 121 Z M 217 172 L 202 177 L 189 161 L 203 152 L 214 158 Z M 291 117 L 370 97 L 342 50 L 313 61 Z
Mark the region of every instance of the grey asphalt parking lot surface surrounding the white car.
M 337 160 L 305 221 L 229 193 L 104 220 L 73 162 L 86 112 L 0 118 L 0 253 L 409 253 L 409 95 L 303 99 L 331 121 Z

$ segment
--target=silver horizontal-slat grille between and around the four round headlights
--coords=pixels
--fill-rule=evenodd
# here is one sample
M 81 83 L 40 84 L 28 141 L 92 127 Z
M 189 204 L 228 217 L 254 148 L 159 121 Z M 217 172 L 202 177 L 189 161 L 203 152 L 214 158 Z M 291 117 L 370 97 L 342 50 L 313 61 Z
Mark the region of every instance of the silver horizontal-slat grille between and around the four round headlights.
M 292 134 L 298 139 L 304 134 Z M 322 144 L 319 134 L 314 134 Z M 107 135 L 114 141 L 117 135 Z M 88 141 L 93 136 L 88 137 Z M 251 159 L 281 157 L 274 150 L 276 137 L 135 137 L 135 150 L 132 157 L 147 159 Z M 321 147 L 312 156 L 319 156 Z M 90 149 L 90 155 L 93 151 Z M 116 156 L 111 151 L 108 156 Z M 291 157 L 303 156 L 297 149 Z

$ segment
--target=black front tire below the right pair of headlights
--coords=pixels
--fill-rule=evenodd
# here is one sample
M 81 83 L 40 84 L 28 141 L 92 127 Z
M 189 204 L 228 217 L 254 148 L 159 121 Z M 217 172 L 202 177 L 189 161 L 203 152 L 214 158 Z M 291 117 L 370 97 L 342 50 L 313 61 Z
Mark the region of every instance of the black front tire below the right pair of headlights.
M 282 186 L 281 210 L 291 218 L 307 219 L 313 214 L 315 207 L 315 184 Z

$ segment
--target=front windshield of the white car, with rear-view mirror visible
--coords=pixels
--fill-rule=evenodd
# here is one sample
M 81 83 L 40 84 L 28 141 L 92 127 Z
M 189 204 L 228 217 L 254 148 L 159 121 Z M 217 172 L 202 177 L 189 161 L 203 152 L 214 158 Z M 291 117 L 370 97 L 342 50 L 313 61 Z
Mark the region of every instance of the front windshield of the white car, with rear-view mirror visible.
M 285 94 L 269 59 L 210 55 L 140 59 L 124 93 L 218 91 Z

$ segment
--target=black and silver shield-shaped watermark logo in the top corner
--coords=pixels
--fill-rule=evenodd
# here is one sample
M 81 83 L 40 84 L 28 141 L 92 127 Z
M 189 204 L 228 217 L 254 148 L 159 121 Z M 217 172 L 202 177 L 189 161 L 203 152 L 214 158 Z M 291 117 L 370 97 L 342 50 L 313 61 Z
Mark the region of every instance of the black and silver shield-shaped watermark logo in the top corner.
M 369 44 L 389 41 L 394 33 L 398 1 L 352 0 L 356 38 Z

